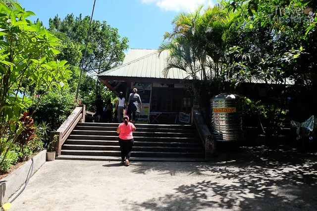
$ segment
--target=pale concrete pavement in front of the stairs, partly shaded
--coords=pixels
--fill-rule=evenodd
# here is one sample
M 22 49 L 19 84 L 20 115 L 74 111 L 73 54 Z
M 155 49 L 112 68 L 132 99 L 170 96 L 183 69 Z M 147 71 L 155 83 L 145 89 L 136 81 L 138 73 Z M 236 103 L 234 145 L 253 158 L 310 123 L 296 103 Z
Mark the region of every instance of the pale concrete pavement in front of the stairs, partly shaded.
M 12 211 L 317 211 L 317 156 L 269 149 L 209 163 L 47 162 Z

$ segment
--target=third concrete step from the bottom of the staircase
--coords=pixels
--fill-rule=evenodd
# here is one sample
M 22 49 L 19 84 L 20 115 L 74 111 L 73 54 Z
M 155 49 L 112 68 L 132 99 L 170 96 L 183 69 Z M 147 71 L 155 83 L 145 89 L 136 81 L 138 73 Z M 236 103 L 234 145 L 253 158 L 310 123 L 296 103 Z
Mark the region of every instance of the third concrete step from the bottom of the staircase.
M 78 145 L 64 144 L 62 150 L 102 150 L 102 151 L 120 151 L 119 145 Z M 134 146 L 134 151 L 142 152 L 202 152 L 201 147 L 158 147 L 158 146 Z

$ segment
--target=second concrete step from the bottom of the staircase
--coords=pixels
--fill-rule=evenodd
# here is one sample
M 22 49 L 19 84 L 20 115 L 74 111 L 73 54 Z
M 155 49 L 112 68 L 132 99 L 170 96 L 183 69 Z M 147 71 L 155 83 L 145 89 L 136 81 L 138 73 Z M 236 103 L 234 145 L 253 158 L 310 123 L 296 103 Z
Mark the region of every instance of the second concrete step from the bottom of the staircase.
M 61 155 L 85 155 L 85 156 L 116 156 L 120 157 L 120 151 L 99 150 L 61 150 Z M 159 157 L 159 158 L 203 158 L 203 153 L 196 152 L 141 152 L 132 151 L 133 157 Z

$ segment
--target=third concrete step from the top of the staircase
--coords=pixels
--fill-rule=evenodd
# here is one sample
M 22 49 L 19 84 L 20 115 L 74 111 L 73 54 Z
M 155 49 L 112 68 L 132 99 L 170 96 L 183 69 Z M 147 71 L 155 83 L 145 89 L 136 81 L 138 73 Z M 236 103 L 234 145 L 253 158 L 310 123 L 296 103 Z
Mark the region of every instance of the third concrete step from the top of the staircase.
M 103 135 L 115 136 L 116 131 L 96 131 L 96 130 L 73 130 L 71 135 Z M 133 137 L 196 137 L 195 133 L 176 133 L 176 132 L 133 132 Z

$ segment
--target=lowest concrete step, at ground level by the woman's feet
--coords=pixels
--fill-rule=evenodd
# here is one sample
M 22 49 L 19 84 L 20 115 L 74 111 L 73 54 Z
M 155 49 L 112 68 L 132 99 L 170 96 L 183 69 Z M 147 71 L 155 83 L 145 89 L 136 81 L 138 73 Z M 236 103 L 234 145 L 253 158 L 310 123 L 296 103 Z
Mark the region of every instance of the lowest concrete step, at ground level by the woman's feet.
M 56 160 L 80 160 L 80 161 L 121 161 L 121 157 L 112 156 L 86 156 L 86 155 L 60 155 Z M 205 162 L 203 158 L 153 158 L 153 157 L 131 157 L 131 162 Z M 118 164 L 119 165 L 119 164 Z M 133 163 L 131 164 L 133 165 Z

